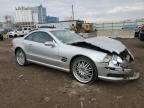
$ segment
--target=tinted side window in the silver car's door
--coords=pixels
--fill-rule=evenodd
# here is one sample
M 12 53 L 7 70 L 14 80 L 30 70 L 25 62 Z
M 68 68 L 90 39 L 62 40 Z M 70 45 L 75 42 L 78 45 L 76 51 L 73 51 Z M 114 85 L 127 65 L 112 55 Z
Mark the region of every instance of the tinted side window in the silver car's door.
M 53 41 L 52 37 L 45 32 L 34 32 L 25 38 L 26 40 L 45 43 L 47 41 Z

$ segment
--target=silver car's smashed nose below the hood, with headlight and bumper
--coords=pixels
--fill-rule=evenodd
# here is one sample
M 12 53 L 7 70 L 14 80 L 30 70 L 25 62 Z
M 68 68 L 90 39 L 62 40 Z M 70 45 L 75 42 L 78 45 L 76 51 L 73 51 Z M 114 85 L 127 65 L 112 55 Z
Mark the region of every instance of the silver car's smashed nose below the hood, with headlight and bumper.
M 134 57 L 128 49 L 120 54 L 107 55 L 103 62 L 97 63 L 99 78 L 111 81 L 138 79 L 139 73 L 129 68 L 133 61 Z

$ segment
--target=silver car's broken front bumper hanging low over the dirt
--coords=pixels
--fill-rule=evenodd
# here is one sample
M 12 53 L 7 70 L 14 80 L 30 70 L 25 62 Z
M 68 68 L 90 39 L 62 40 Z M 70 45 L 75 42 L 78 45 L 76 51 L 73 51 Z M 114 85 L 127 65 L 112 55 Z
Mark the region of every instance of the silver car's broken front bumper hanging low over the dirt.
M 110 68 L 105 63 L 97 64 L 98 78 L 106 81 L 136 80 L 140 77 L 138 72 L 127 68 Z

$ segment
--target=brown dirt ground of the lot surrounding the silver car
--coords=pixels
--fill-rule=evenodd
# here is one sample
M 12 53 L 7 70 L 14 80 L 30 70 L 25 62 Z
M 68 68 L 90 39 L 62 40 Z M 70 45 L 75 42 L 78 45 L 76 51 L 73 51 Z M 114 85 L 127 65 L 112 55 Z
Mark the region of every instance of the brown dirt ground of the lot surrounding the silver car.
M 121 41 L 134 54 L 133 70 L 140 72 L 140 79 L 98 80 L 93 85 L 48 67 L 20 67 L 10 52 L 10 40 L 0 41 L 0 108 L 144 108 L 144 42 Z

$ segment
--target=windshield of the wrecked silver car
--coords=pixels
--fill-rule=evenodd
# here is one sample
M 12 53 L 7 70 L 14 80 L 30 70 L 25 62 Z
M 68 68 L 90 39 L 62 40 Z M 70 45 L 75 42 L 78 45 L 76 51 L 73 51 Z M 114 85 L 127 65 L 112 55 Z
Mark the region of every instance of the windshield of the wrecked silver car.
M 80 40 L 83 40 L 84 38 L 81 37 L 80 35 L 71 32 L 69 30 L 56 30 L 56 31 L 51 31 L 51 33 L 56 36 L 61 42 L 63 43 L 74 43 Z

